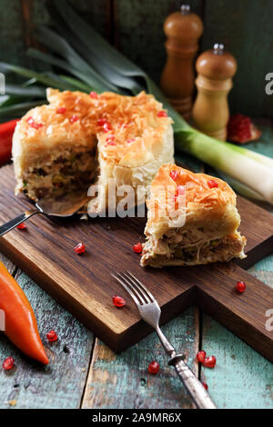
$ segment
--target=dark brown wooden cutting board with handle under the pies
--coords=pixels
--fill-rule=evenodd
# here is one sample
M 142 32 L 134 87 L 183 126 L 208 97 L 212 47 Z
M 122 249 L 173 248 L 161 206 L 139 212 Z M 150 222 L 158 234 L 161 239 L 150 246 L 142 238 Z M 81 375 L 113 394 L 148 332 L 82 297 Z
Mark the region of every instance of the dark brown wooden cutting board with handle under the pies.
M 0 223 L 33 207 L 25 196 L 15 197 L 12 165 L 0 169 L 0 183 Z M 272 252 L 273 216 L 241 197 L 238 209 L 240 230 L 248 238 L 248 258 L 238 263 L 143 269 L 139 255 L 132 251 L 134 243 L 144 242 L 146 220 L 138 218 L 84 222 L 36 215 L 26 223 L 26 230 L 15 229 L 1 237 L 0 250 L 116 352 L 151 332 L 110 276 L 128 269 L 156 296 L 162 323 L 198 304 L 273 361 L 273 332 L 266 328 L 273 290 L 243 270 Z M 74 252 L 79 242 L 86 244 L 82 255 Z M 247 291 L 238 294 L 235 284 L 241 280 Z M 113 305 L 113 294 L 126 298 L 123 309 Z

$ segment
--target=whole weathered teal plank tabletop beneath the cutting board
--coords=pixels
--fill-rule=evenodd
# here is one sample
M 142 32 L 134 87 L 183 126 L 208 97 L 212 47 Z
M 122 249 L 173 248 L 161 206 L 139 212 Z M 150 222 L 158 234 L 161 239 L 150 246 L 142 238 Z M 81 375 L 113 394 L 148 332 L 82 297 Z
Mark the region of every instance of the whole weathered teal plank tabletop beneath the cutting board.
M 272 144 L 271 127 L 264 125 L 262 129 L 263 138 Z M 264 207 L 273 214 L 272 206 Z M 4 255 L 0 259 L 32 304 L 50 358 L 48 367 L 40 367 L 1 335 L 0 362 L 12 355 L 15 369 L 4 372 L 0 368 L 0 408 L 192 407 L 177 375 L 167 367 L 156 333 L 117 355 Z M 273 287 L 273 255 L 249 273 Z M 58 334 L 56 343 L 48 343 L 45 338 L 51 329 Z M 197 376 L 207 382 L 218 408 L 273 408 L 272 363 L 206 313 L 192 307 L 163 330 L 177 350 L 187 354 L 187 362 Z M 197 365 L 196 354 L 201 349 L 217 357 L 214 370 Z M 147 372 L 153 360 L 161 367 L 156 376 Z

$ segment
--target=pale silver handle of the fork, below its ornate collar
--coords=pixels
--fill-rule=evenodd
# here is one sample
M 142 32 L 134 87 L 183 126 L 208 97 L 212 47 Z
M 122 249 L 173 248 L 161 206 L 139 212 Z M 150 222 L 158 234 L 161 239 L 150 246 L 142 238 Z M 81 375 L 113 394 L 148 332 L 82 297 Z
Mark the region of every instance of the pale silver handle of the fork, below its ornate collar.
M 183 356 L 176 355 L 172 357 L 168 364 L 176 368 L 177 375 L 181 382 L 183 382 L 193 402 L 195 402 L 197 409 L 217 409 L 203 384 L 199 382 L 196 375 L 187 366 L 187 363 L 184 362 Z

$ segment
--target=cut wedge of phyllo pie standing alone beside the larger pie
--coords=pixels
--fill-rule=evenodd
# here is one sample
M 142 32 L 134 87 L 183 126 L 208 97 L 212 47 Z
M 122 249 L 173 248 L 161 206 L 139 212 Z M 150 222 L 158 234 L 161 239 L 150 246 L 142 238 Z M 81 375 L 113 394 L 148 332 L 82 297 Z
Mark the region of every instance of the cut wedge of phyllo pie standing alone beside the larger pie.
M 238 233 L 236 194 L 220 179 L 165 164 L 151 184 L 147 209 L 142 266 L 197 265 L 246 256 L 246 238 Z

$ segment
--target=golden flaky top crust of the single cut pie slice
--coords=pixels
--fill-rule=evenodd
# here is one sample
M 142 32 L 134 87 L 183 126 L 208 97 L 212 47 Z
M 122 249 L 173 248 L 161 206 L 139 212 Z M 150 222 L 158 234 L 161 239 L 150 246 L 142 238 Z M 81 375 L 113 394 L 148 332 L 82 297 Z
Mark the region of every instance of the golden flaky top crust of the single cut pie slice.
M 173 172 L 177 174 L 176 180 L 170 176 Z M 208 182 L 211 180 L 217 182 L 217 188 L 209 187 Z M 236 209 L 236 194 L 227 183 L 207 174 L 194 174 L 176 164 L 164 164 L 151 184 L 150 197 L 147 200 L 147 235 L 155 234 L 160 238 L 169 228 L 168 213 L 161 214 L 162 194 L 165 194 L 168 204 L 169 198 L 180 185 L 185 187 L 185 226 L 213 220 L 225 223 L 226 220 L 229 233 L 237 230 L 239 215 Z

